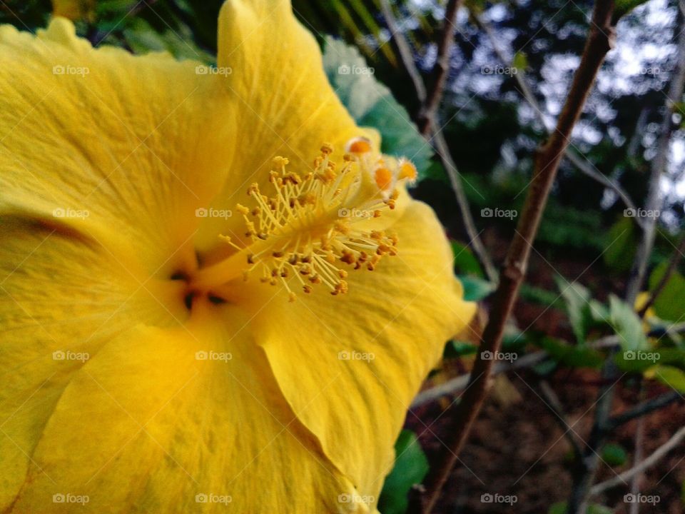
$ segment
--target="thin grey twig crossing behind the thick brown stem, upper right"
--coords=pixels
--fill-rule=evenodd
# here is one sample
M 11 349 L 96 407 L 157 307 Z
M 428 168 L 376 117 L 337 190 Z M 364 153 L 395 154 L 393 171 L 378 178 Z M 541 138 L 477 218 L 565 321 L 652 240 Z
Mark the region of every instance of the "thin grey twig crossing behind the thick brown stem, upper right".
M 483 21 L 481 16 L 474 15 L 473 19 L 475 20 L 476 24 L 480 26 L 482 31 L 484 31 L 485 35 L 490 40 L 490 44 L 492 45 L 494 54 L 497 55 L 497 59 L 499 59 L 499 61 L 502 61 L 502 65 L 514 68 L 514 62 L 509 61 L 507 59 L 507 56 L 504 55 L 504 51 L 502 51 L 502 49 L 499 48 L 499 45 L 497 44 L 497 36 L 495 36 L 494 31 L 492 31 L 492 27 L 487 22 Z M 549 134 L 549 131 L 552 130 L 553 127 L 547 126 L 547 121 L 544 119 L 542 108 L 537 99 L 535 98 L 535 95 L 533 94 L 532 90 L 530 89 L 530 86 L 528 85 L 526 79 L 524 79 L 524 74 L 517 73 L 513 74 L 512 77 L 519 86 L 519 93 L 521 94 L 521 96 L 523 96 L 524 100 L 527 101 L 529 106 L 531 106 L 531 108 L 533 109 L 537 121 L 539 122 L 539 124 L 542 125 L 542 129 Z M 601 183 L 602 186 L 614 191 L 614 193 L 616 193 L 617 196 L 621 198 L 621 201 L 623 201 L 624 205 L 627 208 L 634 209 L 635 211 L 637 210 L 637 206 L 632 201 L 629 194 L 626 193 L 624 188 L 622 188 L 617 181 L 612 180 L 612 178 L 609 178 L 608 176 L 604 175 L 604 173 L 600 173 L 592 163 L 588 163 L 589 161 L 587 161 L 587 158 L 581 156 L 579 153 L 576 153 L 574 149 L 570 147 L 566 148 L 565 157 L 569 160 L 570 163 L 572 163 L 576 168 L 578 168 L 578 170 L 581 173 L 584 173 L 585 175 L 592 178 L 594 181 Z M 635 221 L 640 226 L 642 225 L 641 218 L 635 218 Z

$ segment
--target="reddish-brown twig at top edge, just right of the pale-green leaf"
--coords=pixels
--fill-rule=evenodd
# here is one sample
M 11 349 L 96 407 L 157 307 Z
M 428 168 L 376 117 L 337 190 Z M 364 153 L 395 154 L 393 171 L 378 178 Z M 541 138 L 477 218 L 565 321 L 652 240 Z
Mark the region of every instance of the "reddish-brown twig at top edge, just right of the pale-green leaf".
M 445 21 L 442 24 L 440 39 L 437 41 L 437 59 L 426 87 L 426 98 L 417 116 L 417 126 L 423 136 L 433 131 L 437 107 L 442 99 L 447 75 L 450 71 L 450 57 L 457 31 L 457 12 L 463 0 L 448 0 L 445 7 Z

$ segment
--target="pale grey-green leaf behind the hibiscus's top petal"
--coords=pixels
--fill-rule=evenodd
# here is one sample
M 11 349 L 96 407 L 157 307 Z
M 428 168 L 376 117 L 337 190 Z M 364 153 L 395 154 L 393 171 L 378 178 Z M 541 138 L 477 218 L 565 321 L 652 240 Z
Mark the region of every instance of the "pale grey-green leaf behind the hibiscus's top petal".
M 432 148 L 390 89 L 375 79 L 374 69 L 367 66 L 359 51 L 327 36 L 323 66 L 328 81 L 357 124 L 371 126 L 380 132 L 381 151 L 409 158 L 415 164 L 419 178 L 424 178 L 431 166 Z

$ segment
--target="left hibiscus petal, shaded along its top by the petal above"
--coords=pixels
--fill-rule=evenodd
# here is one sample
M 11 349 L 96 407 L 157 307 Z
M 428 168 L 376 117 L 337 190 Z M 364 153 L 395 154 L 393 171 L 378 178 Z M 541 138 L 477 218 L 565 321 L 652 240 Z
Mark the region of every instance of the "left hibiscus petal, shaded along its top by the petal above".
M 56 226 L 0 218 L 1 511 L 72 373 L 131 324 L 173 326 L 184 316 L 182 303 L 171 312 L 166 301 L 179 297 L 178 283 L 141 284 L 135 270 Z

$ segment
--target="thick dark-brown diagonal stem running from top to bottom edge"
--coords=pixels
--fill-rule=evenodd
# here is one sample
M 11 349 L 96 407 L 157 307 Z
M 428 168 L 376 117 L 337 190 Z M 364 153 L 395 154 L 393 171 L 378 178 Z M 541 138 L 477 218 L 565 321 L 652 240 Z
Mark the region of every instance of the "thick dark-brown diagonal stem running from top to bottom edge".
M 502 343 L 504 324 L 512 312 L 519 287 L 527 271 L 530 250 L 534 241 L 542 212 L 547 203 L 549 191 L 557 176 L 559 162 L 567 148 L 571 132 L 578 121 L 590 89 L 594 84 L 599 67 L 612 47 L 614 29 L 611 25 L 614 2 L 598 0 L 594 6 L 592 23 L 581 61 L 576 70 L 557 128 L 549 140 L 537 152 L 532 182 L 519 218 L 516 233 L 512 239 L 504 261 L 504 269 L 499 278 L 499 286 L 494 294 L 490 319 L 485 327 L 480 353 L 477 354 L 472 371 L 472 380 L 455 408 L 452 436 L 447 438 L 449 452 L 443 455 L 425 481 L 426 496 L 423 512 L 428 514 L 435 507 L 442 486 L 457 462 L 458 455 L 467 439 L 473 421 L 480 412 L 489 389 L 489 376 L 494 362 L 480 358 L 484 351 L 497 353 Z

